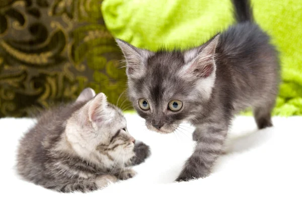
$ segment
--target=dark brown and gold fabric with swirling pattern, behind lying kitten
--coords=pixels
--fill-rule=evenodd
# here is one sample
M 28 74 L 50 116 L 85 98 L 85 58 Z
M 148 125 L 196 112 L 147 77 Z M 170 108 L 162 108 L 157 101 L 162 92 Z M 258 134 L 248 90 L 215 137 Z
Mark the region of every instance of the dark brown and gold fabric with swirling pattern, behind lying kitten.
M 101 3 L 0 1 L 0 117 L 27 117 L 33 108 L 75 99 L 88 86 L 117 103 L 126 74 Z M 128 105 L 126 97 L 119 102 Z

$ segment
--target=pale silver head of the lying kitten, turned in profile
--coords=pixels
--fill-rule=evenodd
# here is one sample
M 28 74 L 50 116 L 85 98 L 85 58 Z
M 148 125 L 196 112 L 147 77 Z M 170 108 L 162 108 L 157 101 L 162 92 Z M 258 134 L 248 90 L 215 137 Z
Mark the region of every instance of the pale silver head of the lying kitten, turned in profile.
M 67 141 L 83 158 L 105 167 L 121 167 L 134 156 L 134 138 L 128 133 L 121 110 L 104 93 L 86 88 L 74 104 L 85 104 L 66 124 Z

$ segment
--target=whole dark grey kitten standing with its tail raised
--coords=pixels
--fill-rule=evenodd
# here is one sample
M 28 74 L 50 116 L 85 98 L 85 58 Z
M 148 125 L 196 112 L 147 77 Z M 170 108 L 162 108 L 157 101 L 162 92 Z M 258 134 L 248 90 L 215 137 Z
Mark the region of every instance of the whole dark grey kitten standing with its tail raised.
M 117 39 L 126 58 L 130 101 L 147 128 L 171 133 L 184 121 L 196 127 L 195 151 L 177 181 L 211 173 L 240 111 L 253 108 L 259 129 L 272 126 L 278 53 L 254 22 L 250 2 L 233 5 L 237 24 L 196 48 L 151 52 Z

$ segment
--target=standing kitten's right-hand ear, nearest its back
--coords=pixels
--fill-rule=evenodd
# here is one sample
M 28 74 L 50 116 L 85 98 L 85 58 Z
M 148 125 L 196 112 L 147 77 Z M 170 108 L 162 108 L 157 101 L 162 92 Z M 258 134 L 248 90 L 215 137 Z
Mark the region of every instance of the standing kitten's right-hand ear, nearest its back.
M 215 49 L 219 41 L 219 35 L 201 46 L 188 50 L 184 53 L 185 60 L 188 61 L 186 72 L 199 78 L 207 78 L 215 73 Z

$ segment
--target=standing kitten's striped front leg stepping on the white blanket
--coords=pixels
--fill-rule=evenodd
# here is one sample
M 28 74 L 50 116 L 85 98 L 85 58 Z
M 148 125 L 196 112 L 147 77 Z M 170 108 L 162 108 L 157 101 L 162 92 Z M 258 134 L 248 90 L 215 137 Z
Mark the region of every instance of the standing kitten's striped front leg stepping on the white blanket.
M 224 153 L 227 133 L 228 126 L 224 124 L 207 123 L 198 126 L 193 135 L 197 141 L 195 150 L 176 181 L 208 176 L 216 159 Z

